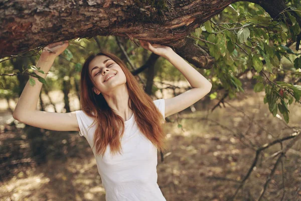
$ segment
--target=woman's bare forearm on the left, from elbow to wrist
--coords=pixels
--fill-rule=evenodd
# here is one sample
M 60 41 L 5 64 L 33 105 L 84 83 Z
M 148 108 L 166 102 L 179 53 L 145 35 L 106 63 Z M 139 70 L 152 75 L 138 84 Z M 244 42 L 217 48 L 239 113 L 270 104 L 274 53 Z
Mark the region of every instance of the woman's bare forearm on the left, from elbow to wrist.
M 36 67 L 41 67 L 40 70 L 48 73 L 54 60 L 55 57 L 41 55 Z M 36 70 L 34 72 L 43 78 L 46 78 L 47 76 L 47 74 L 40 73 Z M 30 78 L 33 78 L 36 83 L 34 86 L 32 86 L 29 81 L 27 82 L 18 100 L 18 104 L 14 111 L 14 116 L 22 117 L 29 111 L 37 110 L 39 95 L 43 84 L 36 77 L 30 76 Z

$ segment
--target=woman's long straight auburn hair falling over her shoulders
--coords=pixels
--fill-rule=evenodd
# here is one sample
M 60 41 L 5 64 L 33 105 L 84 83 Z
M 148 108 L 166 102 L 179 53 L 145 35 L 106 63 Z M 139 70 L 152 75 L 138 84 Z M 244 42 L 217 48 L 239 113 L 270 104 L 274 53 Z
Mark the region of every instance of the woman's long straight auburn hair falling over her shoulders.
M 107 145 L 110 146 L 111 154 L 120 153 L 120 139 L 124 133 L 123 119 L 115 114 L 108 106 L 102 93 L 94 93 L 94 86 L 89 74 L 89 64 L 96 57 L 105 55 L 115 61 L 122 69 L 126 77 L 126 86 L 129 93 L 128 107 L 133 111 L 137 127 L 140 132 L 150 140 L 157 149 L 164 151 L 166 149 L 166 135 L 162 127 L 165 122 L 163 115 L 155 106 L 153 99 L 144 92 L 138 81 L 128 70 L 124 62 L 116 55 L 110 52 L 101 51 L 97 54 L 90 54 L 85 60 L 80 74 L 80 107 L 89 117 L 94 118 L 90 127 L 97 124 L 94 137 L 93 148 L 96 146 L 96 154 L 102 156 L 105 153 Z M 120 132 L 121 131 L 121 132 Z

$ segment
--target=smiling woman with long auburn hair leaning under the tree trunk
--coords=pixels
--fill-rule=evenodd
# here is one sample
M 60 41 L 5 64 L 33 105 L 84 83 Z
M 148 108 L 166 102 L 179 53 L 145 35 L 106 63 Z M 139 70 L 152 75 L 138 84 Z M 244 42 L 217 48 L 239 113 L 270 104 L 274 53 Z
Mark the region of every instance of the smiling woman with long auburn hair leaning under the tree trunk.
M 25 124 L 55 131 L 79 131 L 90 144 L 106 190 L 106 200 L 166 200 L 157 184 L 157 149 L 164 150 L 165 118 L 196 103 L 211 83 L 172 48 L 140 41 L 143 48 L 168 59 L 192 89 L 172 98 L 152 100 L 115 55 L 90 55 L 81 71 L 81 109 L 71 113 L 36 110 L 42 83 L 26 84 L 14 111 Z M 68 46 L 43 49 L 37 67 L 49 72 Z M 42 77 L 47 74 L 36 72 Z

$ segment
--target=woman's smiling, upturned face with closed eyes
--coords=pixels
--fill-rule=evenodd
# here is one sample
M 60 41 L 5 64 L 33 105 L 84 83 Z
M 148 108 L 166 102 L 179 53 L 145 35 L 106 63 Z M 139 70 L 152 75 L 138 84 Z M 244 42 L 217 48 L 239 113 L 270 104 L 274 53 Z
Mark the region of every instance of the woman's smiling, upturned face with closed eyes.
M 112 89 L 126 82 L 125 74 L 121 67 L 110 57 L 105 55 L 96 56 L 89 64 L 93 90 L 96 94 L 112 92 Z M 117 74 L 116 74 L 117 73 Z M 107 75 L 112 76 L 109 79 Z

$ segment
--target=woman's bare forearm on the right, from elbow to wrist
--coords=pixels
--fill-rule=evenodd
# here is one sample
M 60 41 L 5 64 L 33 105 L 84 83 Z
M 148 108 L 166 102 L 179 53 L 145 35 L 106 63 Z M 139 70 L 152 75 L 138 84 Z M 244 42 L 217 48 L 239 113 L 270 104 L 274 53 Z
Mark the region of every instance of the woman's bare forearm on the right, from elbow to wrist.
M 181 56 L 175 52 L 168 53 L 165 58 L 173 64 L 185 76 L 190 85 L 194 88 L 211 89 L 211 82 L 208 81 L 194 67 L 187 63 Z

